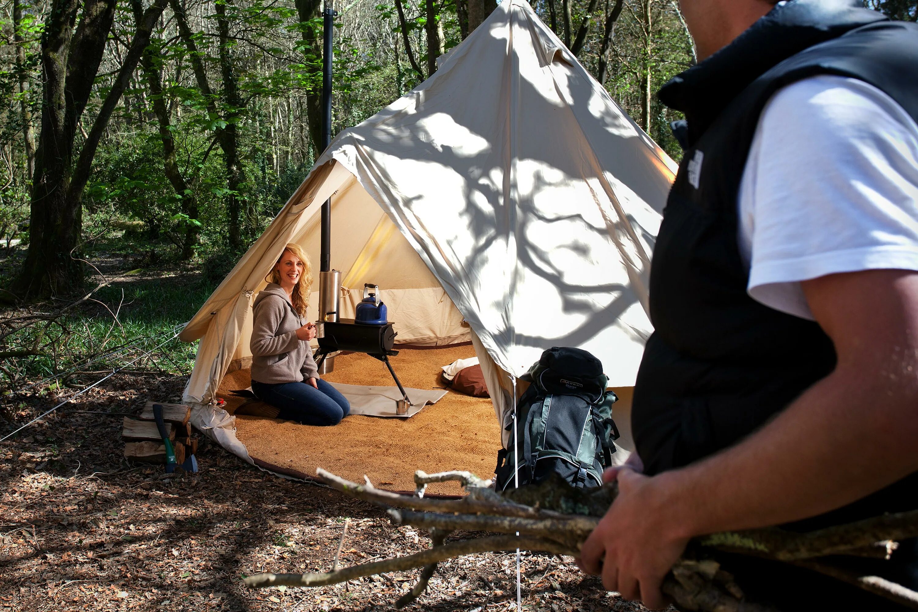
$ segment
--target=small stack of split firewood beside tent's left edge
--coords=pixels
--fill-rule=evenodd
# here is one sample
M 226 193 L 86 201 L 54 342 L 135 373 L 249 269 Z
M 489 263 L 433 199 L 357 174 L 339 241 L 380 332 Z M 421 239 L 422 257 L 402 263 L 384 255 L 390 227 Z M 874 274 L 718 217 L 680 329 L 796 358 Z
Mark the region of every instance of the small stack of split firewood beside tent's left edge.
M 162 404 L 162 420 L 165 421 L 169 440 L 175 450 L 175 462 L 181 465 L 185 457 L 197 452 L 197 437 L 193 435 L 190 422 L 191 407 L 184 404 Z M 124 417 L 121 438 L 125 440 L 125 459 L 143 463 L 166 462 L 166 447 L 153 418 L 153 402 L 148 401 L 143 406 L 140 417 Z

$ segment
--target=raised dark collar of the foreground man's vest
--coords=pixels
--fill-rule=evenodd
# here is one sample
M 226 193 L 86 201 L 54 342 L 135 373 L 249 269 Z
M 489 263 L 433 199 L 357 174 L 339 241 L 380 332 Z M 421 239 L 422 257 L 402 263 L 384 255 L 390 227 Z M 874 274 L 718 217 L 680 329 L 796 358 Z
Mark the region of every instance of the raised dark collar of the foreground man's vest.
M 693 144 L 747 85 L 768 69 L 848 30 L 887 20 L 856 0 L 780 2 L 732 43 L 670 79 L 659 92 L 666 106 L 685 113 Z

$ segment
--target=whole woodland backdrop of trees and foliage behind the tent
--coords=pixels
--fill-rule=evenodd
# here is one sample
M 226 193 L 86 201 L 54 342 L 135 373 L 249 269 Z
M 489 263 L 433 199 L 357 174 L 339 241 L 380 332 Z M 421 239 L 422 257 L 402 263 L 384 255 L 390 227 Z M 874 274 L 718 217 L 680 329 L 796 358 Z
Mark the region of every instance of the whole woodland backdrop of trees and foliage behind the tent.
M 436 70 L 489 0 L 343 0 L 332 133 Z M 100 239 L 232 259 L 320 152 L 321 0 L 6 0 L 0 240 L 32 245 L 8 291 L 81 288 Z M 918 18 L 914 0 L 868 0 Z M 671 155 L 655 90 L 694 61 L 676 0 L 536 0 L 536 12 Z M 40 247 L 40 248 L 39 248 Z M 7 300 L 12 295 L 4 294 Z

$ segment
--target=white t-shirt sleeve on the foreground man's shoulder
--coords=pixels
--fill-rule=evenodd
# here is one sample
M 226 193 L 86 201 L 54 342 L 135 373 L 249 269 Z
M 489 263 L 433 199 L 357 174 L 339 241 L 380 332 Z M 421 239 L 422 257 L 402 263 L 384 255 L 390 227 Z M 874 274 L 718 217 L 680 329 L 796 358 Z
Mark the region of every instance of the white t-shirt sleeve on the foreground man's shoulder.
M 889 95 L 841 76 L 768 101 L 740 184 L 748 292 L 812 319 L 800 281 L 918 271 L 918 125 Z

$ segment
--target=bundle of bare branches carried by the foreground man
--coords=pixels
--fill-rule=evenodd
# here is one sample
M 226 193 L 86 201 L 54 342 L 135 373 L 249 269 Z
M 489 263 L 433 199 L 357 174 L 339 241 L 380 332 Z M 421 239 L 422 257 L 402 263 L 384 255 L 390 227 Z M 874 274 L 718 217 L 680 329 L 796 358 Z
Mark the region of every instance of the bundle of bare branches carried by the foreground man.
M 608 509 L 617 488 L 576 489 L 558 478 L 497 494 L 481 484 L 472 473 L 444 472 L 415 474 L 419 496 L 351 483 L 334 474 L 318 471 L 319 479 L 335 489 L 364 501 L 390 507 L 388 514 L 399 525 L 412 525 L 431 532 L 432 548 L 405 557 L 366 563 L 331 573 L 263 573 L 246 578 L 251 587 L 320 586 L 353 580 L 375 573 L 409 570 L 423 566 L 420 579 L 400 597 L 397 607 L 407 606 L 424 592 L 437 562 L 453 557 L 489 551 L 516 549 L 577 555 L 582 543 Z M 459 500 L 424 499 L 423 488 L 434 482 L 458 481 L 469 495 Z M 522 502 L 522 503 L 521 503 Z M 525 504 L 525 505 L 524 505 Z M 397 509 L 408 508 L 408 509 Z M 453 530 L 491 531 L 507 535 L 462 540 L 443 545 Z M 517 534 L 517 535 L 509 535 Z M 520 535 L 521 534 L 521 535 Z M 743 591 L 718 562 L 703 559 L 705 549 L 730 551 L 790 562 L 854 584 L 903 606 L 918 609 L 918 593 L 877 576 L 861 576 L 828 562 L 812 561 L 828 555 L 849 554 L 888 558 L 894 540 L 918 537 L 918 511 L 872 517 L 848 525 L 797 533 L 785 529 L 750 529 L 712 534 L 694 540 L 694 553 L 702 559 L 680 559 L 666 576 L 663 591 L 677 605 L 707 612 L 775 612 L 773 608 L 744 601 Z

